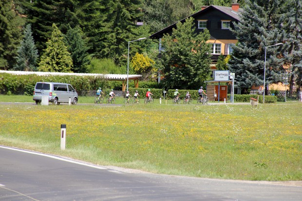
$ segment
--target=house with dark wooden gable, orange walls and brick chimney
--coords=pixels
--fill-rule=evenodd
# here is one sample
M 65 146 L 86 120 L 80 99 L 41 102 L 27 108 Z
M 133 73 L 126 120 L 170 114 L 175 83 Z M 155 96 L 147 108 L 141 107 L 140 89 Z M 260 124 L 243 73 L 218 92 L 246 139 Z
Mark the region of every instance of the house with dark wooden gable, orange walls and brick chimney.
M 203 32 L 205 29 L 208 29 L 210 33 L 210 40 L 208 40 L 208 42 L 212 43 L 212 70 L 216 69 L 215 65 L 219 55 L 223 54 L 227 56 L 231 54 L 232 46 L 238 41 L 235 35 L 230 31 L 230 28 L 234 28 L 234 22 L 240 21 L 238 15 L 240 11 L 239 3 L 232 3 L 231 7 L 210 5 L 202 6 L 200 11 L 189 16 L 195 19 L 196 33 Z M 187 18 L 180 21 L 183 23 Z M 161 52 L 164 51 L 161 43 L 162 37 L 164 34 L 171 34 L 172 29 L 176 28 L 176 23 L 149 37 L 153 41 L 158 40 L 156 42 L 159 43 L 159 57 L 161 56 Z

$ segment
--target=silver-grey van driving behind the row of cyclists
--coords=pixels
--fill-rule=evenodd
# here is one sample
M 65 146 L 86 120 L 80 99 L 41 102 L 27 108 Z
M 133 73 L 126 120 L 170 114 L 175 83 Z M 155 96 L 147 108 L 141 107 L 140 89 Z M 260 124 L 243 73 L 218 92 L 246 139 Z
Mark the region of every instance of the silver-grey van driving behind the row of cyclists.
M 77 92 L 70 84 L 58 82 L 37 82 L 33 97 L 36 104 L 41 103 L 42 96 L 48 96 L 48 101 L 55 105 L 69 103 L 69 99 L 76 105 L 78 100 Z

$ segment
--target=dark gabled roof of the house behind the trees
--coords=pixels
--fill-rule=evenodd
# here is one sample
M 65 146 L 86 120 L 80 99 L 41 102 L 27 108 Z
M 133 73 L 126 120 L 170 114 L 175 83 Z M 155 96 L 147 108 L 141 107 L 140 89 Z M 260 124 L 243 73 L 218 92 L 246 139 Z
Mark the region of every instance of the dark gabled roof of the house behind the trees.
M 200 10 L 197 13 L 194 13 L 194 14 L 188 16 L 187 18 L 189 18 L 189 17 L 194 18 L 195 16 L 198 16 L 198 15 L 200 15 L 200 14 L 202 14 L 202 13 L 204 13 L 204 12 L 210 10 L 210 9 L 219 10 L 219 11 L 227 14 L 228 16 L 234 18 L 235 20 L 240 21 L 238 12 L 233 11 L 232 7 L 218 6 L 218 5 L 210 5 L 207 8 L 205 8 L 203 10 Z M 239 12 L 241 12 L 241 11 L 242 11 L 242 9 L 240 8 Z M 183 23 L 187 18 L 184 18 L 184 19 L 180 20 L 180 22 Z M 166 27 L 166 28 L 164 28 L 164 29 L 162 29 L 162 30 L 160 30 L 160 31 L 152 34 L 149 38 L 154 38 L 154 39 L 156 38 L 156 39 L 158 39 L 159 36 L 163 35 L 164 33 L 167 33 L 168 30 L 171 30 L 172 28 L 175 28 L 177 23 L 178 23 L 178 21 L 175 22 L 174 24 L 171 24 L 170 26 L 168 26 L 168 27 Z

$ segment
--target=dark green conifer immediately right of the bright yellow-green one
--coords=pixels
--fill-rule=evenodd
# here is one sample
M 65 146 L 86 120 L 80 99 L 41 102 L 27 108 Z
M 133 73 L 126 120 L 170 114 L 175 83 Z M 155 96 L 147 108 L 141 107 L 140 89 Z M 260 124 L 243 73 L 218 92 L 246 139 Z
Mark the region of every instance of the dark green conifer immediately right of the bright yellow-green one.
M 72 71 L 74 73 L 87 73 L 87 66 L 90 64 L 87 52 L 89 47 L 87 47 L 85 35 L 81 29 L 79 27 L 74 29 L 69 27 L 64 41 L 73 59 Z

